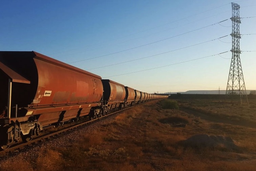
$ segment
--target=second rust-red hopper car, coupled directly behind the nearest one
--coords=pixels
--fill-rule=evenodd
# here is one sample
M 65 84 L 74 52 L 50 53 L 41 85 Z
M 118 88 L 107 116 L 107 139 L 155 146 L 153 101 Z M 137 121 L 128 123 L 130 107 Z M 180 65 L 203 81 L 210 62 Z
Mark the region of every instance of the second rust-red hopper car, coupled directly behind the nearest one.
M 103 103 L 105 112 L 108 113 L 111 110 L 122 110 L 126 107 L 125 103 L 125 86 L 119 83 L 116 83 L 112 80 L 102 79 L 103 84 Z

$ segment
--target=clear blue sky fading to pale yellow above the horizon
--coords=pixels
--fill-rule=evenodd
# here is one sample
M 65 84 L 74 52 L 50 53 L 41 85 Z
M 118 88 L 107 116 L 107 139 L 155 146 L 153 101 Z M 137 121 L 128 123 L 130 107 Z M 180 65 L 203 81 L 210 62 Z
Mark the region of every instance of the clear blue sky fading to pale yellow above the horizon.
M 3 51 L 34 50 L 148 93 L 219 87 L 226 90 L 232 39 L 231 36 L 217 38 L 231 34 L 231 2 L 3 0 L 0 47 Z M 236 3 L 240 5 L 240 17 L 256 16 L 255 0 Z M 229 20 L 221 25 L 215 24 L 226 19 Z M 256 34 L 256 18 L 244 18 L 241 22 L 240 34 Z M 243 35 L 240 49 L 256 50 L 256 35 Z M 229 52 L 211 56 L 225 51 Z M 240 55 L 248 90 L 256 89 L 255 56 L 256 52 Z M 198 58 L 202 59 L 185 62 Z M 113 65 L 131 60 L 135 61 Z M 103 67 L 106 65 L 112 66 Z M 170 66 L 161 67 L 165 65 Z M 97 67 L 101 68 L 93 69 Z M 161 68 L 147 70 L 156 67 Z M 119 74 L 124 75 L 116 76 Z

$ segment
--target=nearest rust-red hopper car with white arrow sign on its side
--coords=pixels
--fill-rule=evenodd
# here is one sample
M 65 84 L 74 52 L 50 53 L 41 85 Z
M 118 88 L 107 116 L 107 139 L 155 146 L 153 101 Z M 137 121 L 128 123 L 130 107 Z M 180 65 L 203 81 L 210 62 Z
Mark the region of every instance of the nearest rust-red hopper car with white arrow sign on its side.
M 31 132 L 101 105 L 100 76 L 34 51 L 0 51 L 0 79 L 0 129 L 9 131 L 7 146 L 17 141 L 12 137 L 31 138 Z

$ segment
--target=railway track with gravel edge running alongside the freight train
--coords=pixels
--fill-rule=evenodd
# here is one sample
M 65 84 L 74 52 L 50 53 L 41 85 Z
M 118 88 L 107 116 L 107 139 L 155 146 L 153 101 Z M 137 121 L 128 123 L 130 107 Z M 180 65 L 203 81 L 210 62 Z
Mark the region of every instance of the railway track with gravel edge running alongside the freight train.
M 50 133 L 45 133 L 39 137 L 36 137 L 35 139 L 32 139 L 31 141 L 29 142 L 21 142 L 15 146 L 11 146 L 9 147 L 7 150 L 4 150 L 4 151 L 0 151 L 0 156 L 3 156 L 7 153 L 12 153 L 12 152 L 19 152 L 20 150 L 22 150 L 24 147 L 28 146 L 33 146 L 34 144 L 37 144 L 38 142 L 42 142 L 46 139 L 49 139 L 49 138 L 56 138 L 58 137 L 58 135 L 63 135 L 63 133 L 67 132 L 69 133 L 68 131 L 71 131 L 75 128 L 78 128 L 78 127 L 81 127 L 81 126 L 85 126 L 85 125 L 88 125 L 90 123 L 94 123 L 94 122 L 97 122 L 101 119 L 105 119 L 106 117 L 110 116 L 110 115 L 114 115 L 114 114 L 118 114 L 120 112 L 123 112 L 127 109 L 130 109 L 131 107 L 128 107 L 128 108 L 125 108 L 123 110 L 118 110 L 118 111 L 115 111 L 115 112 L 112 112 L 112 113 L 109 113 L 107 115 L 104 115 L 104 116 L 101 116 L 101 117 L 98 117 L 96 119 L 93 119 L 93 120 L 86 120 L 86 121 L 83 121 L 81 123 L 78 123 L 78 124 L 75 124 L 75 125 L 71 125 L 70 126 L 67 126 L 66 128 L 63 128 L 61 130 L 58 130 L 58 131 L 55 131 L 55 132 L 50 132 Z

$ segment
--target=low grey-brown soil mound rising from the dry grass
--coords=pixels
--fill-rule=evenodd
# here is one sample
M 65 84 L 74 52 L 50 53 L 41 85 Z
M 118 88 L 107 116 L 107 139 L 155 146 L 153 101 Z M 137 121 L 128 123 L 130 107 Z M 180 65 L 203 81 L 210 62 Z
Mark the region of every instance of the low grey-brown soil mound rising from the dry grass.
M 186 146 L 237 149 L 235 140 L 222 135 L 196 134 L 182 141 Z

